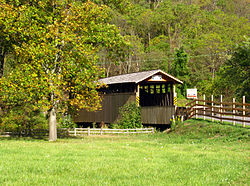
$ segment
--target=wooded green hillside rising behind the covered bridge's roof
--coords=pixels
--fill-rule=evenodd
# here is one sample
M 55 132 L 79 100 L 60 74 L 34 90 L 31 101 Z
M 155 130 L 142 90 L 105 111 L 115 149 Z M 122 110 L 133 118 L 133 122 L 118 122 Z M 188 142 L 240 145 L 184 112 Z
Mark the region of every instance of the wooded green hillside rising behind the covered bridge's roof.
M 244 56 L 245 70 L 235 71 L 233 80 L 219 76 L 238 44 L 245 42 L 249 48 L 249 0 L 114 1 L 119 6 L 108 2 L 112 23 L 130 45 L 124 55 L 108 57 L 107 48 L 100 52 L 106 76 L 160 68 L 178 76 L 187 87 L 197 87 L 199 93 L 249 94 L 249 52 Z M 179 69 L 185 71 L 183 75 L 176 73 L 176 61 L 187 61 L 187 67 Z

